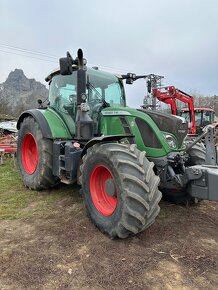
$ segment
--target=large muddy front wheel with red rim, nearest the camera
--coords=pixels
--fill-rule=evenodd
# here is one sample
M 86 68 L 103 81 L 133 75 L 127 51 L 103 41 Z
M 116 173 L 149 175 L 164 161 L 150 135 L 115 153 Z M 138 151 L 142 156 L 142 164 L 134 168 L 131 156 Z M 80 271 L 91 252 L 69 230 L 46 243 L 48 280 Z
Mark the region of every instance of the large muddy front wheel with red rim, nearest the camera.
M 135 235 L 154 223 L 161 193 L 153 165 L 135 144 L 96 144 L 83 157 L 80 180 L 88 215 L 111 238 Z

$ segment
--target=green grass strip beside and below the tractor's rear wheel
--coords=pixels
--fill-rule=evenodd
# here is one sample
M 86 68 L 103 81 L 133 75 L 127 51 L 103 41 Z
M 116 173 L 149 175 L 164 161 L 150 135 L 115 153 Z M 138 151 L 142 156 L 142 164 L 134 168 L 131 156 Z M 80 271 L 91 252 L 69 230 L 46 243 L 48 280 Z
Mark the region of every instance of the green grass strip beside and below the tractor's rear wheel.
M 24 187 L 17 164 L 10 158 L 0 166 L 0 220 L 27 219 L 51 212 L 60 200 L 80 203 L 77 187 L 60 185 L 45 191 L 32 191 Z

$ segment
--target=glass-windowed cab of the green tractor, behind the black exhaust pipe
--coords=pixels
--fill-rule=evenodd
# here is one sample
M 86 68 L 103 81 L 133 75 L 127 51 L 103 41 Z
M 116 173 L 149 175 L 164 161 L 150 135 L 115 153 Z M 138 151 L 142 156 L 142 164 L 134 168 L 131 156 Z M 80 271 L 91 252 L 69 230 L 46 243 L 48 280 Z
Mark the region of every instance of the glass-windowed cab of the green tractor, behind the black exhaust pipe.
M 63 118 L 72 135 L 75 134 L 77 114 L 77 73 L 77 70 L 73 70 L 71 75 L 61 75 L 60 70 L 56 70 L 46 78 L 50 86 L 50 107 Z M 88 113 L 94 122 L 94 131 L 96 131 L 99 112 L 103 108 L 126 105 L 121 78 L 97 68 L 87 68 L 85 95 Z

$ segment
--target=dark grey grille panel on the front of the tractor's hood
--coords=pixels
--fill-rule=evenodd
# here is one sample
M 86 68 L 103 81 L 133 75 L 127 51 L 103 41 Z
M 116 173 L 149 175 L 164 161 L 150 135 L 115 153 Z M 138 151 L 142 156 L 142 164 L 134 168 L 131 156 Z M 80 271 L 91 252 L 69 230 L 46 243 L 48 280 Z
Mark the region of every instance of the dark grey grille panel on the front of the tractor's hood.
M 143 109 L 139 111 L 149 115 L 161 131 L 173 134 L 177 138 L 178 147 L 182 146 L 182 142 L 188 132 L 187 123 L 183 123 L 181 119 L 170 114 Z

